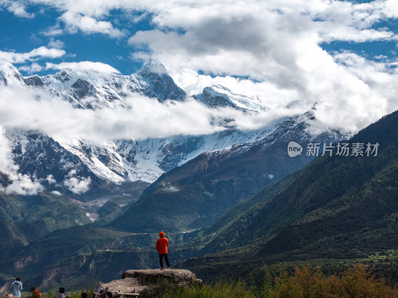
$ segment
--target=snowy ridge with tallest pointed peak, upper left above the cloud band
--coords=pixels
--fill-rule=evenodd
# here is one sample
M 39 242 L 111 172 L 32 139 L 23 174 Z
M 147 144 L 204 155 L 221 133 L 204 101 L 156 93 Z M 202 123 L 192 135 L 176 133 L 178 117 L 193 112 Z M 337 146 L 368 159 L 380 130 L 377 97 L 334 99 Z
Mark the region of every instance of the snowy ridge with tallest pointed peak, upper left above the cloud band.
M 44 88 L 77 108 L 126 108 L 123 98 L 127 92 L 154 97 L 160 102 L 167 99 L 184 100 L 187 96 L 158 61 L 144 64 L 131 75 L 64 69 L 46 76 L 23 77 L 14 66 L 5 64 L 0 67 L 0 79 L 6 85 Z

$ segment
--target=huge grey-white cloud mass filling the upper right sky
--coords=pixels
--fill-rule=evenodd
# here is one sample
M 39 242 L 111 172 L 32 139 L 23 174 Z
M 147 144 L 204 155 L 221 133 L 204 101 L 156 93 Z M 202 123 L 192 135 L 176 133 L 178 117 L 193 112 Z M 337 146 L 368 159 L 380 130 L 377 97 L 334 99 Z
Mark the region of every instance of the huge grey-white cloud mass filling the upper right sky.
M 270 107 L 299 100 L 307 105 L 315 101 L 328 107 L 348 105 L 354 110 L 352 86 L 355 90 L 361 86 L 364 89 L 354 96 L 361 107 L 376 107 L 378 101 L 395 102 L 393 93 L 378 90 L 376 84 L 370 87 L 369 81 L 363 81 L 320 47 L 335 40 L 396 39 L 392 30 L 372 27 L 385 16 L 381 2 L 246 4 L 241 10 L 231 3 L 205 2 L 195 7 L 181 3 L 175 9 L 161 10 L 152 19 L 157 28 L 138 31 L 129 38 L 136 50 L 132 58 L 159 58 L 189 94 L 200 93 L 207 85 L 223 84 L 237 93 L 257 96 Z M 376 108 L 378 116 L 381 110 L 386 111 L 383 104 Z M 360 108 L 355 115 L 363 119 L 366 111 Z M 354 123 L 355 119 L 349 120 L 349 129 L 364 124 L 362 120 Z

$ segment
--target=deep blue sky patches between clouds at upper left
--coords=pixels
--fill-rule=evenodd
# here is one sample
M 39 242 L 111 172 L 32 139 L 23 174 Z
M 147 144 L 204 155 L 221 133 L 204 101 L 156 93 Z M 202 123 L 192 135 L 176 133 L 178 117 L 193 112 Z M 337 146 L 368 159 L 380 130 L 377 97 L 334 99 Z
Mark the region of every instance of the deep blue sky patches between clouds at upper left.
M 38 13 L 38 6 L 29 9 Z M 128 15 L 120 17 L 118 11 L 113 11 L 109 18 L 118 20 L 118 27 L 134 34 L 138 30 L 152 29 L 150 19 L 145 17 L 137 23 L 132 23 Z M 142 61 L 129 58 L 132 47 L 127 44 L 127 37 L 114 39 L 108 35 L 66 33 L 61 36 L 46 36 L 44 32 L 54 26 L 59 17 L 59 12 L 54 8 L 46 8 L 34 18 L 18 17 L 12 12 L 3 9 L 0 11 L 0 45 L 1 51 L 29 52 L 40 46 L 47 46 L 52 40 L 61 41 L 67 54 L 63 57 L 52 59 L 52 63 L 94 61 L 109 64 L 122 74 L 132 74 L 140 68 Z M 20 70 L 23 75 L 30 73 Z M 45 75 L 56 71 L 42 70 L 35 74 Z

